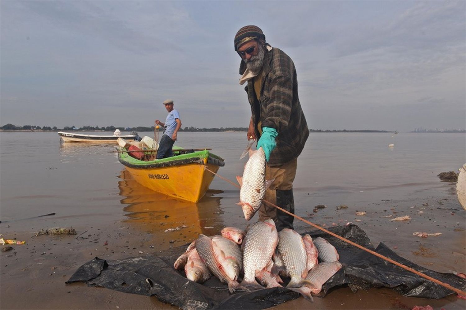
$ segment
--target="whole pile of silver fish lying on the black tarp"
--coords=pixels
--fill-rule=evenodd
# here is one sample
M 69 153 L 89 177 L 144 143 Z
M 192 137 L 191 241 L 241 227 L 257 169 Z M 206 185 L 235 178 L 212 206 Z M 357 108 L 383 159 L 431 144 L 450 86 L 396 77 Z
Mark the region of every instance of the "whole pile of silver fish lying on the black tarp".
M 286 288 L 312 300 L 311 294 L 318 294 L 342 268 L 338 259 L 335 247 L 324 238 L 302 237 L 288 228 L 277 232 L 274 221 L 267 219 L 252 225 L 246 234 L 226 227 L 219 236 L 199 235 L 174 267 L 184 268 L 186 277 L 198 283 L 213 274 L 231 293 L 282 287 L 286 277 L 290 278 Z

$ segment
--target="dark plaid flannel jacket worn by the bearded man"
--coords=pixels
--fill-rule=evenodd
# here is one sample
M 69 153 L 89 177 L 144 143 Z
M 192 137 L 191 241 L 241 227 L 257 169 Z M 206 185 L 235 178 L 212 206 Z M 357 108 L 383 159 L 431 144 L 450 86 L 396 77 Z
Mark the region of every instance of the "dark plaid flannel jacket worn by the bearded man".
M 240 74 L 246 66 L 240 65 Z M 250 79 L 245 87 L 256 136 L 260 137 L 257 124 L 272 127 L 278 132 L 277 147 L 270 154 L 268 165 L 280 166 L 297 158 L 301 154 L 309 136 L 306 118 L 302 112 L 298 98 L 298 81 L 293 60 L 274 47 L 266 53 L 262 70 L 262 86 L 260 100 L 254 92 L 254 79 Z

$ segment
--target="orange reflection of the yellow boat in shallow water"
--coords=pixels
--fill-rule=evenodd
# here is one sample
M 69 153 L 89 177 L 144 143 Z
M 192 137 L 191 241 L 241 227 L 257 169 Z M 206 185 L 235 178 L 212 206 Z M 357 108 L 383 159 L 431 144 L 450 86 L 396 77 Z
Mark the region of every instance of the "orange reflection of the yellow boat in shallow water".
M 128 219 L 124 222 L 151 233 L 159 244 L 186 244 L 197 239 L 199 234 L 219 234 L 224 227 L 223 219 L 219 216 L 221 197 L 212 197 L 222 191 L 209 190 L 198 203 L 193 203 L 140 185 L 126 169 L 121 171 L 119 178 L 118 188 L 123 197 L 120 202 L 127 204 L 123 211 L 129 212 L 125 214 Z M 176 228 L 180 229 L 172 230 Z

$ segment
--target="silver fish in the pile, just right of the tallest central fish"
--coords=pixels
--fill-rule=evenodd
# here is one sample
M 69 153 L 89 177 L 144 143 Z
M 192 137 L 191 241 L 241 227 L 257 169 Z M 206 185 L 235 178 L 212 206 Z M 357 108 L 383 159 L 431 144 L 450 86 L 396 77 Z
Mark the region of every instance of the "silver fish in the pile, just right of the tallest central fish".
M 307 255 L 301 235 L 285 228 L 278 233 L 278 238 L 278 251 L 291 277 L 287 287 L 301 287 L 308 284 L 309 281 L 304 279 L 308 274 Z

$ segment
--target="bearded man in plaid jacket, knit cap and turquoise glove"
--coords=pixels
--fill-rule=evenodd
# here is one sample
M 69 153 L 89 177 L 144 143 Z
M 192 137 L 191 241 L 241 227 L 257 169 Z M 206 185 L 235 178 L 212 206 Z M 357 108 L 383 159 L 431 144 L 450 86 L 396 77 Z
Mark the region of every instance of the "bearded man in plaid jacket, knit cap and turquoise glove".
M 298 81 L 293 60 L 270 46 L 258 26 L 244 26 L 234 37 L 234 49 L 241 57 L 240 85 L 251 105 L 247 139 L 259 138 L 257 148 L 265 152 L 266 180 L 274 179 L 265 200 L 295 213 L 293 181 L 298 156 L 309 136 L 308 125 L 298 98 Z M 272 218 L 277 231 L 293 229 L 294 217 L 262 204 L 259 218 Z

